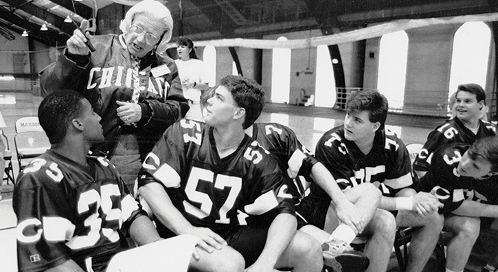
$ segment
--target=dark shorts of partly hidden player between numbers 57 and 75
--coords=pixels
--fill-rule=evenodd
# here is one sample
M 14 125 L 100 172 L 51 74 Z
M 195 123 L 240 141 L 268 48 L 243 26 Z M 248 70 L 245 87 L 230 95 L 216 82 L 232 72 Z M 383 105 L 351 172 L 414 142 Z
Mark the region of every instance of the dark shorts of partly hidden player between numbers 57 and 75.
M 324 229 L 330 200 L 310 198 L 306 196 L 299 205 L 295 206 L 297 229 L 306 225 L 314 225 Z

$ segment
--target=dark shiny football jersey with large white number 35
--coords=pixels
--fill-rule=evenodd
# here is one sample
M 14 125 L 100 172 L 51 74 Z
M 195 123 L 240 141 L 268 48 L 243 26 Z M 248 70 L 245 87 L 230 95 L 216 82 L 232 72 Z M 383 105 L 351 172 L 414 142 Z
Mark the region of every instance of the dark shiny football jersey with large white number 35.
M 14 187 L 19 271 L 45 271 L 69 259 L 103 271 L 122 251 L 120 235 L 145 212 L 108 160 L 82 166 L 52 150 L 33 159 Z

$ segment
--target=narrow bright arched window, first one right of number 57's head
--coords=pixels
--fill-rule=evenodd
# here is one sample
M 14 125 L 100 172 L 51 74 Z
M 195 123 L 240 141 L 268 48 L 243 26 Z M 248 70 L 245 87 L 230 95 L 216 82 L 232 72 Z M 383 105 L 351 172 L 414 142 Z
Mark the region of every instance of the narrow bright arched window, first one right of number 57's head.
M 277 41 L 287 41 L 280 37 Z M 271 102 L 288 103 L 291 89 L 291 49 L 273 49 L 271 67 Z

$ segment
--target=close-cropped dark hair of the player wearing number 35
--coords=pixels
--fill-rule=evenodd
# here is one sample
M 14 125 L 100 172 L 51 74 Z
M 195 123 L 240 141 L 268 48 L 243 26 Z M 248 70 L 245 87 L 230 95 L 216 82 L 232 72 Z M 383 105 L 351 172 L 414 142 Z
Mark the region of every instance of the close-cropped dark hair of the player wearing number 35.
M 69 122 L 81 114 L 83 99 L 81 93 L 62 90 L 54 91 L 42 100 L 38 107 L 38 120 L 50 144 L 63 141 Z

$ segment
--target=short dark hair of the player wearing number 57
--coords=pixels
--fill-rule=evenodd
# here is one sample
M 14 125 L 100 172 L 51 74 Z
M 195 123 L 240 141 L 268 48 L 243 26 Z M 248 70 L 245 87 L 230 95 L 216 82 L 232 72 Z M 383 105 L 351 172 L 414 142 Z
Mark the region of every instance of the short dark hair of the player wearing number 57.
M 264 106 L 264 91 L 260 84 L 242 76 L 225 76 L 220 86 L 226 87 L 238 106 L 245 109 L 244 129 L 249 128 L 260 117 Z

